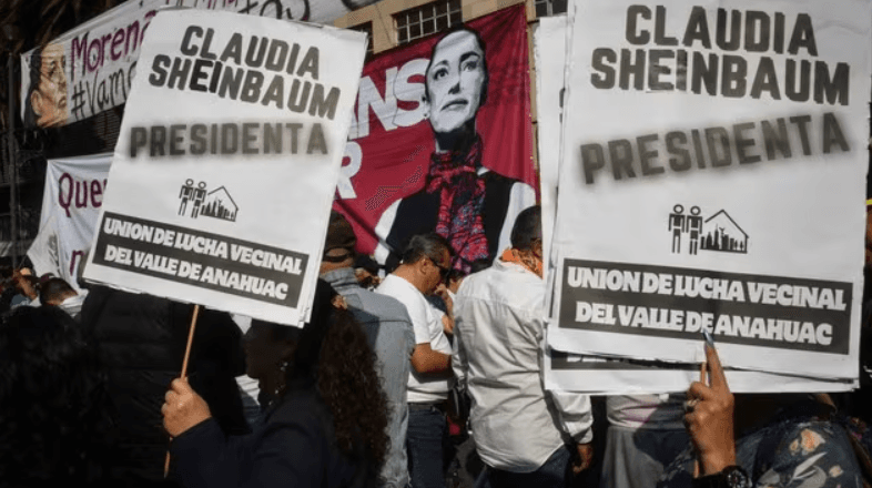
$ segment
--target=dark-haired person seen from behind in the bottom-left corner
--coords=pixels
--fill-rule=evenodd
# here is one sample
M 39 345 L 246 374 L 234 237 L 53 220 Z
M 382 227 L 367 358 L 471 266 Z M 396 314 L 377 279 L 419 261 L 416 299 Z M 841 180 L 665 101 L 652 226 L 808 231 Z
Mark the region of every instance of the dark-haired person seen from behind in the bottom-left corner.
M 0 326 L 0 486 L 103 486 L 112 417 L 92 344 L 57 307 Z

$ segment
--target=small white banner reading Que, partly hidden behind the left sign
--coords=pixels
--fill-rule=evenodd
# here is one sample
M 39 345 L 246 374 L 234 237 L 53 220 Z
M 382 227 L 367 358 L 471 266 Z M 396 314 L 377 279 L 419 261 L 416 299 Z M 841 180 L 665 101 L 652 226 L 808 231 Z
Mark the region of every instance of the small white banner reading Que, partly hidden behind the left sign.
M 97 230 L 112 154 L 49 160 L 40 230 L 28 251 L 37 275 L 51 273 L 78 288 L 77 271 Z

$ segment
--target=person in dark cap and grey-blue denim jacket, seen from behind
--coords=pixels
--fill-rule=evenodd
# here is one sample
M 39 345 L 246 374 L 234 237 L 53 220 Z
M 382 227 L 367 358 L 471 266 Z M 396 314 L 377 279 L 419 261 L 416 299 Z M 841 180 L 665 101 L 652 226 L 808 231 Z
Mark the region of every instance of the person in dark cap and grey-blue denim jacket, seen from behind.
M 357 236 L 339 212 L 331 212 L 321 278 L 345 298 L 348 311 L 363 325 L 369 346 L 375 352 L 376 370 L 391 411 L 387 434 L 391 438 L 381 478 L 383 487 L 405 488 L 409 482 L 406 458 L 408 384 L 415 334 L 406 307 L 387 295 L 365 289 L 355 276 Z

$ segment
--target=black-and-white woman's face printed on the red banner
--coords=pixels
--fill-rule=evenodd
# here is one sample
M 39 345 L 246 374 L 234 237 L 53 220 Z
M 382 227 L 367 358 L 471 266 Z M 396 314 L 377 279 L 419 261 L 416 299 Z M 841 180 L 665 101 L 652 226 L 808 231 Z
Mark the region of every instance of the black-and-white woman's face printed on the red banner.
M 443 38 L 427 70 L 427 110 L 433 130 L 453 132 L 475 119 L 487 73 L 478 39 L 466 31 Z

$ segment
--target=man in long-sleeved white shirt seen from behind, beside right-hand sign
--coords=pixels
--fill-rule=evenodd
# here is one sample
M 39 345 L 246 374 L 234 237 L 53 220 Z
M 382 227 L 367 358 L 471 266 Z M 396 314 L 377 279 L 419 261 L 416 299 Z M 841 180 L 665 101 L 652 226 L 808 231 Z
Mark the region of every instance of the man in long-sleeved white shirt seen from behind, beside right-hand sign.
M 511 246 L 457 292 L 454 369 L 490 487 L 565 487 L 592 459 L 592 414 L 588 396 L 543 386 L 540 206 L 518 215 Z

